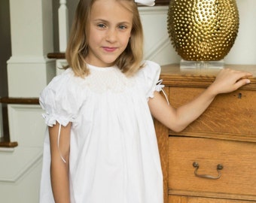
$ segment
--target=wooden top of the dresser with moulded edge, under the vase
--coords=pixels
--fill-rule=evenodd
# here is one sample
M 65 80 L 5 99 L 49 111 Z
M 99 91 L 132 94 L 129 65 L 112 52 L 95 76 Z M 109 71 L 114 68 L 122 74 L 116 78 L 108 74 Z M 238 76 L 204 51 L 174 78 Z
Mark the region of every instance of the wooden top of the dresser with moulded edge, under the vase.
M 256 90 L 256 65 L 224 65 L 224 68 L 251 72 L 251 83 L 242 89 Z M 219 71 L 218 68 L 180 68 L 178 64 L 169 64 L 161 66 L 160 79 L 166 86 L 207 87 Z

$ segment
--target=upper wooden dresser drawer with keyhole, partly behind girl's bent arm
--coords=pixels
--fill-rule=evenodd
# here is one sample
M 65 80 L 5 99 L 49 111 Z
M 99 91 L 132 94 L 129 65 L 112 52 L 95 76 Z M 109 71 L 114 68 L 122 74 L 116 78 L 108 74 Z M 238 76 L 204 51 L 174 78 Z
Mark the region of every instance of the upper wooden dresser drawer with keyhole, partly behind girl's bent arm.
M 170 103 L 176 108 L 200 94 L 202 88 L 171 87 Z M 256 141 L 256 91 L 237 90 L 218 95 L 199 119 L 182 132 L 213 133 Z M 236 139 L 236 138 L 234 138 Z

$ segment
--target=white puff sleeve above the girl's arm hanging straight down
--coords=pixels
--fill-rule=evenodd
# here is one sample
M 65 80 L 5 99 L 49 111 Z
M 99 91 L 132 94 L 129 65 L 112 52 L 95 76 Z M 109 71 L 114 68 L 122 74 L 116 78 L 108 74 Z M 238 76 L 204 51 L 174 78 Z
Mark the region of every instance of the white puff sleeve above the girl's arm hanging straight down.
M 41 92 L 39 102 L 45 111 L 43 114 L 47 126 L 53 126 L 56 121 L 62 126 L 74 122 L 81 108 L 81 89 L 71 69 L 56 76 Z

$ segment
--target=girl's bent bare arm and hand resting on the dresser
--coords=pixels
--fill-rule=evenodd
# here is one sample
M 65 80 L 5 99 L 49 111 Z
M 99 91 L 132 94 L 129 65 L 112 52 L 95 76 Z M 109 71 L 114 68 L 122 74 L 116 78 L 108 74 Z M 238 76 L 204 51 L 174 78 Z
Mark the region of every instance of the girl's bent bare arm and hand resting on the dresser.
M 217 75 L 215 81 L 191 102 L 177 109 L 167 105 L 165 98 L 159 92 L 154 92 L 148 105 L 154 118 L 175 132 L 181 132 L 191 122 L 200 117 L 209 107 L 216 95 L 233 92 L 240 86 L 250 83 L 245 77 L 251 76 L 248 72 L 234 71 L 224 68 Z

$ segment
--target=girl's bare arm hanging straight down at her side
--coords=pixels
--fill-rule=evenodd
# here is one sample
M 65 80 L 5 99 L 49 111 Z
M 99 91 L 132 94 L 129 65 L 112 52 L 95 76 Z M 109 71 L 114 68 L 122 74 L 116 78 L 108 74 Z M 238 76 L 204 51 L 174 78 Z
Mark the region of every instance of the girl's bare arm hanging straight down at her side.
M 50 181 L 53 190 L 53 197 L 56 203 L 70 203 L 69 195 L 69 138 L 72 123 L 66 127 L 61 126 L 58 134 L 59 123 L 49 127 L 50 135 Z M 64 162 L 65 159 L 66 162 Z

